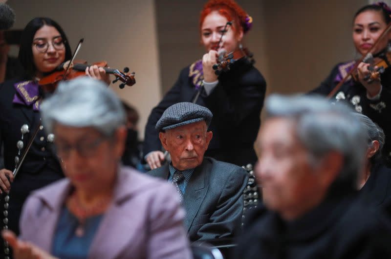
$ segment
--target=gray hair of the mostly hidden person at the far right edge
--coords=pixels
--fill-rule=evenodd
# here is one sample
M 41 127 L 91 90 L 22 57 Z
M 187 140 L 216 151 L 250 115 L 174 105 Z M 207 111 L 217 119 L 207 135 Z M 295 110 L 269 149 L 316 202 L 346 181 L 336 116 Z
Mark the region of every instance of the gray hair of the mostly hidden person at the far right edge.
M 367 131 L 368 144 L 371 145 L 373 140 L 379 142 L 379 149 L 370 158 L 372 163 L 379 161 L 382 158 L 382 151 L 386 136 L 384 135 L 383 129 L 380 128 L 375 122 L 369 119 L 367 116 L 361 113 L 354 113 L 354 115 L 363 123 L 364 128 Z

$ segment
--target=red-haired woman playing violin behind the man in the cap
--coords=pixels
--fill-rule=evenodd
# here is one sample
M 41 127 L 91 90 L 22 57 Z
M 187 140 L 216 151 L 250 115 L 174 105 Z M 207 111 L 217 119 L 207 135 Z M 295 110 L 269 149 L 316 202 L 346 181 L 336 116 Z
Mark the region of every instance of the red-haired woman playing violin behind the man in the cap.
M 174 86 L 152 109 L 146 125 L 143 154 L 151 169 L 165 160 L 156 122 L 178 102 L 195 102 L 213 113 L 209 129 L 214 138 L 205 156 L 239 166 L 256 161 L 253 142 L 261 123 L 266 82 L 247 55 L 233 55 L 233 59 L 229 55 L 245 53 L 241 41 L 251 25 L 252 18 L 233 0 L 210 0 L 204 5 L 199 33 L 206 53 L 182 69 Z M 229 63 L 229 69 L 223 66 L 226 71 L 221 71 L 219 60 Z

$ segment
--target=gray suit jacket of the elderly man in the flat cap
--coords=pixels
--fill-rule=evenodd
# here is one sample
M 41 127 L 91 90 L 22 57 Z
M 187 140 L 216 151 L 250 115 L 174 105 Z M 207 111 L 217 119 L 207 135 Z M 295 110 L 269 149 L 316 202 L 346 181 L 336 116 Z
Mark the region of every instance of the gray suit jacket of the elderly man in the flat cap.
M 168 179 L 168 164 L 148 174 Z M 246 171 L 234 164 L 204 158 L 195 168 L 183 196 L 185 229 L 191 241 L 229 238 L 239 233 Z

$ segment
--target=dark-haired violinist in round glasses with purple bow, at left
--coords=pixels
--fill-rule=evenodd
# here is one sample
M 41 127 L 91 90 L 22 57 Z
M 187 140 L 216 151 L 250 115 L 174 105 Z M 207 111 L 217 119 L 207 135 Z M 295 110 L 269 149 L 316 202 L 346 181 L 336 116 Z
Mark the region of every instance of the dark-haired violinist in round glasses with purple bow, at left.
M 16 179 L 12 171 L 39 127 L 40 104 L 50 94 L 38 85 L 38 80 L 69 60 L 71 50 L 60 25 L 49 18 L 34 18 L 22 32 L 18 58 L 25 75 L 0 85 L 0 146 L 4 146 L 5 167 L 0 168 L 0 193 L 9 192 L 7 201 L 0 197 L 6 206 L 6 211 L 1 209 L 0 227 L 16 233 L 19 233 L 22 204 L 29 193 L 64 177 L 57 157 L 48 148 L 53 139 L 44 133 L 42 126 Z M 86 75 L 109 82 L 108 74 L 97 66 L 88 67 Z M 0 247 L 2 244 L 0 241 Z M 0 248 L 0 256 L 3 252 L 9 254 L 8 249 Z

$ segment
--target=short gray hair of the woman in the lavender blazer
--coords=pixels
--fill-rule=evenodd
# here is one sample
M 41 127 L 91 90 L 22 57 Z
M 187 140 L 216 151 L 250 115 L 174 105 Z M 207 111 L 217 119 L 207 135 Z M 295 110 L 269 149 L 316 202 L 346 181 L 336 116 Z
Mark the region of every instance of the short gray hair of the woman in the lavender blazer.
M 100 80 L 81 77 L 61 82 L 44 100 L 41 116 L 46 132 L 55 123 L 72 127 L 93 127 L 107 137 L 125 125 L 125 112 L 118 97 Z

